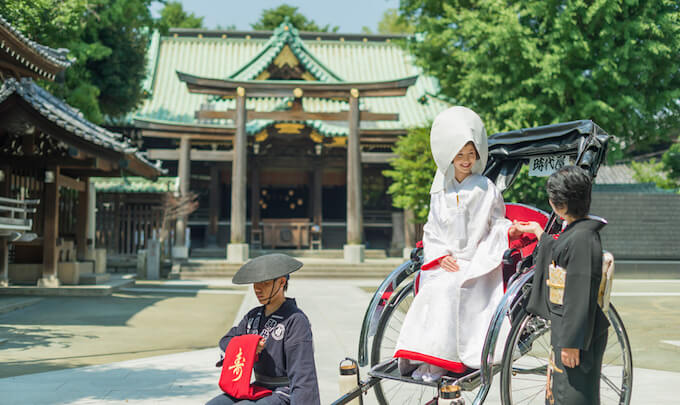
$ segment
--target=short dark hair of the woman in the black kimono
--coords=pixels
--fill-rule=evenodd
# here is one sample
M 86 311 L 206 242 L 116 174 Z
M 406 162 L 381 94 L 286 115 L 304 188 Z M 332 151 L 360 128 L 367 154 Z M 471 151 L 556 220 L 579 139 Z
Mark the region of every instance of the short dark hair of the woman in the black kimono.
M 578 166 L 563 166 L 548 177 L 545 185 L 548 198 L 567 214 L 583 218 L 590 212 L 592 180 L 588 172 Z

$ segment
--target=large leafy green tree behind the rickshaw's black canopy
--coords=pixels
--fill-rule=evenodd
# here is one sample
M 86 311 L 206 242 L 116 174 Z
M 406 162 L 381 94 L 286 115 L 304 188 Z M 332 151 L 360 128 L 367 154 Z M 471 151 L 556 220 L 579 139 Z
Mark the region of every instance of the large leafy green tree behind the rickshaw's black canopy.
M 403 0 L 400 13 L 417 64 L 490 133 L 593 119 L 620 156 L 680 125 L 676 0 Z

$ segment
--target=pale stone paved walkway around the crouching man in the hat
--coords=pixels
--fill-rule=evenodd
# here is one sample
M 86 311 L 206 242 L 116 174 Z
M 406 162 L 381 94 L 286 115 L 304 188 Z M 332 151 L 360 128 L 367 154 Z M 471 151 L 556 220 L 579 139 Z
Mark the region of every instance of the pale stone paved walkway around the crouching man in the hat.
M 225 280 L 218 283 L 223 284 Z M 356 356 L 361 320 L 370 299 L 370 294 L 360 287 L 378 283 L 379 280 L 296 280 L 294 277 L 291 280 L 289 296 L 297 298 L 314 328 L 323 404 L 338 397 L 340 360 L 348 355 Z M 168 282 L 168 288 L 172 286 L 173 282 Z M 252 294 L 246 297 L 236 319 L 257 305 Z M 217 354 L 217 348 L 204 349 L 4 378 L 0 379 L 0 403 L 201 404 L 219 393 L 219 369 L 213 366 Z M 636 368 L 632 403 L 677 403 L 678 387 L 680 373 Z M 366 399 L 366 404 L 375 403 L 372 394 Z M 495 403 L 498 403 L 496 398 L 487 400 L 487 404 Z

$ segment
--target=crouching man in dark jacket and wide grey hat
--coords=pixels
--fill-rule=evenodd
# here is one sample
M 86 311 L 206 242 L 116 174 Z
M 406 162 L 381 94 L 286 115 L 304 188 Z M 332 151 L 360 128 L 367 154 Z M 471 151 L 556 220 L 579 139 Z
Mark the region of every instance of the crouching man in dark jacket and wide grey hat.
M 262 305 L 250 310 L 231 328 L 220 339 L 219 346 L 224 352 L 236 336 L 262 336 L 257 347 L 259 358 L 253 366 L 254 384 L 273 392 L 255 401 L 239 400 L 224 393 L 207 405 L 320 403 L 312 328 L 295 299 L 285 296 L 290 273 L 300 267 L 302 263 L 292 257 L 269 254 L 250 260 L 234 275 L 234 284 L 253 284 Z M 222 360 L 217 365 L 222 366 Z

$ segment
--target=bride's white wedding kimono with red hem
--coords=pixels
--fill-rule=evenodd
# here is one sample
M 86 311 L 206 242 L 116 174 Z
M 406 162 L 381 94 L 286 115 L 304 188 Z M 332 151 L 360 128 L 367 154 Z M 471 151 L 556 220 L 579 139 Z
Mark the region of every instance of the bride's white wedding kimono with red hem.
M 471 110 L 463 112 L 474 114 Z M 437 120 L 431 135 L 435 161 L 442 153 L 441 148 L 435 150 L 436 124 Z M 433 181 L 418 294 L 406 314 L 395 350 L 395 357 L 421 360 L 456 372 L 464 370 L 463 365 L 480 367 L 486 332 L 503 297 L 501 261 L 508 248 L 511 225 L 505 218 L 501 193 L 491 180 L 474 173 L 481 171 L 479 167 L 473 166 L 473 174 L 461 183 L 453 175 L 450 162 L 468 141 L 474 142 L 480 155 L 477 163 L 483 162 L 482 168 L 486 164 L 486 132 L 481 120 L 479 124 L 481 131 L 459 131 L 457 142 L 449 147 L 450 157 L 437 162 L 442 166 L 448 162 L 448 166 L 438 170 Z M 449 127 L 450 123 L 450 131 Z M 457 260 L 459 271 L 447 272 L 439 267 L 439 259 L 447 255 Z M 501 360 L 509 327 L 506 320 L 495 361 Z

